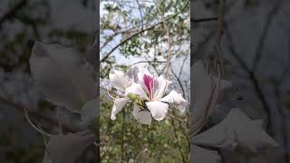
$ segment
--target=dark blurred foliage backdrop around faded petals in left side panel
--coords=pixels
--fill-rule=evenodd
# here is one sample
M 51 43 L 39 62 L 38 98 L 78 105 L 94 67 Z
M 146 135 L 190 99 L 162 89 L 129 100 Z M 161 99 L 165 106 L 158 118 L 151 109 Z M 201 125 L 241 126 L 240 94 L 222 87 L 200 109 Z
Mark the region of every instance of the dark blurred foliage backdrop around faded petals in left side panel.
M 42 100 L 30 72 L 34 41 L 60 43 L 84 53 L 95 40 L 97 14 L 94 0 L 0 1 L 0 162 L 43 161 L 43 136 L 25 120 L 24 108 L 35 124 L 57 133 L 56 107 Z M 65 132 L 78 130 L 68 122 L 75 117 L 63 117 Z M 94 150 L 88 149 L 79 162 L 95 162 L 89 156 Z

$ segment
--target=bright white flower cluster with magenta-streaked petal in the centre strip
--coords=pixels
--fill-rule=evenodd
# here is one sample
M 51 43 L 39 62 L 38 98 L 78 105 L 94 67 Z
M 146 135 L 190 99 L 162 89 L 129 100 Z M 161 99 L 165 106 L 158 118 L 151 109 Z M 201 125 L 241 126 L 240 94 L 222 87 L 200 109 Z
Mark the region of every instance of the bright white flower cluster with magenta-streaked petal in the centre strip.
M 129 101 L 133 102 L 133 117 L 142 124 L 150 124 L 154 120 L 163 120 L 169 110 L 169 104 L 177 105 L 184 111 L 188 102 L 177 91 L 168 91 L 169 82 L 163 75 L 154 77 L 150 72 L 139 72 L 137 67 L 128 72 L 111 70 L 109 74 L 111 85 L 120 91 L 114 98 L 111 110 L 111 120 L 116 120 L 116 114 Z

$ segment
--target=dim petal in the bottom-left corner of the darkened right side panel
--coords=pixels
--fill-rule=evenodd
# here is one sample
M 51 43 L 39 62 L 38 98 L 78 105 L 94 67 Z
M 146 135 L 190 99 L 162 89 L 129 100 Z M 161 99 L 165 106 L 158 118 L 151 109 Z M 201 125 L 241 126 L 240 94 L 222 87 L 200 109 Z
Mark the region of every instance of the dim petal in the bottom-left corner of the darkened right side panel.
M 193 163 L 220 163 L 221 158 L 215 150 L 203 149 L 195 145 L 191 145 L 190 162 Z

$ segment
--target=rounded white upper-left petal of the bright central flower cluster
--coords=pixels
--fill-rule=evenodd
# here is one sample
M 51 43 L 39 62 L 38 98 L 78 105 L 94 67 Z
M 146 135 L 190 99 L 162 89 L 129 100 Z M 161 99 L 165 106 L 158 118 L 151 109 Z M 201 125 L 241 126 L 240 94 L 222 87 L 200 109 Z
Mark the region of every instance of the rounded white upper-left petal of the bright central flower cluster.
M 113 87 L 121 91 L 125 91 L 125 89 L 131 85 L 129 77 L 126 75 L 125 72 L 122 72 L 120 70 L 111 69 L 109 73 L 109 79 Z

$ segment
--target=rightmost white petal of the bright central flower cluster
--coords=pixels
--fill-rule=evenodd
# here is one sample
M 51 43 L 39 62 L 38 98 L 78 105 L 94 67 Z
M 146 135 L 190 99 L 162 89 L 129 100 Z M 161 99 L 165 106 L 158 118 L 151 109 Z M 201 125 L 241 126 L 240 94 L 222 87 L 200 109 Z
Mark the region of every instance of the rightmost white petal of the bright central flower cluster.
M 178 93 L 177 91 L 170 91 L 170 93 L 160 99 L 160 101 L 178 104 L 178 108 L 181 112 L 184 111 L 185 107 L 188 105 L 188 101 L 183 99 L 181 93 Z

